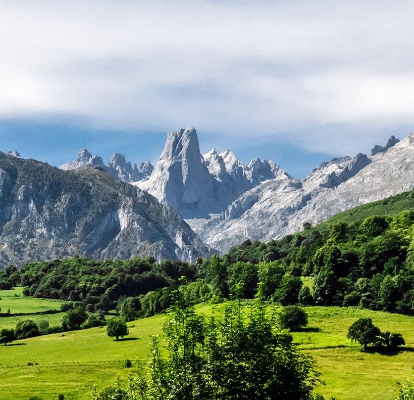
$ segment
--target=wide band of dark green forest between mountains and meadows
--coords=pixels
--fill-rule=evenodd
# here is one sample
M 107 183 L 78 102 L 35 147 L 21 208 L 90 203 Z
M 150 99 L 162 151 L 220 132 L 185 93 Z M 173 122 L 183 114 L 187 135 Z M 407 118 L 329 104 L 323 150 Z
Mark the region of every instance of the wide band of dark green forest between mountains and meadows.
M 413 193 L 381 204 L 389 209 L 394 202 L 398 209 Z M 183 284 L 196 302 L 253 298 L 261 283 L 266 298 L 282 305 L 359 306 L 413 315 L 414 210 L 351 219 L 348 212 L 332 223 L 304 224 L 302 232 L 280 240 L 247 240 L 192 264 L 73 257 L 32 262 L 20 270 L 10 266 L 0 272 L 0 287 L 22 285 L 26 295 L 68 300 L 89 313 L 118 309 L 127 320 L 163 312 Z

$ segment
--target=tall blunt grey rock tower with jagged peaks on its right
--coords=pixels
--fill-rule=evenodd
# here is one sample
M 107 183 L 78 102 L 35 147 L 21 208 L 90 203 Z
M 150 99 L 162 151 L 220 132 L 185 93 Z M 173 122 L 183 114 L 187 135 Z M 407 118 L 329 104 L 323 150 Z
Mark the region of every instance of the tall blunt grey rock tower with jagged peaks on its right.
M 221 213 L 242 193 L 276 177 L 289 179 L 273 161 L 255 158 L 245 165 L 229 150 L 201 155 L 196 130 L 188 127 L 168 134 L 149 179 L 137 185 L 184 218 L 203 218 Z

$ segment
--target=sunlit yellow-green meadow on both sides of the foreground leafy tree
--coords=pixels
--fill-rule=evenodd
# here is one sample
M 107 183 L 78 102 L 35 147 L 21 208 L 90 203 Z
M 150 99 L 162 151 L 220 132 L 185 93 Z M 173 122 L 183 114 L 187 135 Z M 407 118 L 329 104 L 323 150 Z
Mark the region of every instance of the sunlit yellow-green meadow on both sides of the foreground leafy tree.
M 396 381 L 410 375 L 414 366 L 414 322 L 396 314 L 342 307 L 307 307 L 309 329 L 294 334 L 302 351 L 312 355 L 323 373 L 326 386 L 318 392 L 327 399 L 391 400 Z M 200 312 L 211 312 L 210 306 Z M 360 317 L 373 319 L 382 330 L 400 332 L 406 348 L 395 355 L 364 353 L 346 339 L 347 328 Z M 128 323 L 130 334 L 116 342 L 105 328 L 65 332 L 14 342 L 0 347 L 0 399 L 27 399 L 38 395 L 43 400 L 90 398 L 92 385 L 102 388 L 125 379 L 130 370 L 123 367 L 129 359 L 145 360 L 150 336 L 162 334 L 165 317 L 156 316 Z M 28 365 L 32 364 L 32 365 Z

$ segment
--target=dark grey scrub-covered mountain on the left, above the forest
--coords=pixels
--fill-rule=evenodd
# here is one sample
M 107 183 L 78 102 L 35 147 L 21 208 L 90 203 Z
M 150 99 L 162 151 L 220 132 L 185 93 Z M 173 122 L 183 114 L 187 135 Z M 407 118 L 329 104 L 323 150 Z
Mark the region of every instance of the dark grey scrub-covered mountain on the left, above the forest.
M 85 151 L 78 161 L 90 165 L 65 171 L 0 152 L 1 266 L 76 254 L 193 261 L 212 253 L 171 207 L 114 179 Z

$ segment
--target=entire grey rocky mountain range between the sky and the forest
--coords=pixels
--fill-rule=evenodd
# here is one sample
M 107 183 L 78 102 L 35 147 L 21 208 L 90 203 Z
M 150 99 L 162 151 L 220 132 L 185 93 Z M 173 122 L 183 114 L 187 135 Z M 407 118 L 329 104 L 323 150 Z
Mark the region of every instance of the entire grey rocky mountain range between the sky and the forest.
M 414 188 L 413 154 L 414 134 L 393 136 L 370 157 L 334 158 L 297 180 L 271 160 L 201 154 L 193 127 L 168 134 L 155 166 L 121 153 L 105 164 L 86 149 L 59 169 L 0 153 L 0 264 L 73 254 L 193 261 L 280 238 Z

